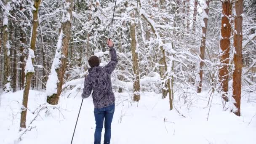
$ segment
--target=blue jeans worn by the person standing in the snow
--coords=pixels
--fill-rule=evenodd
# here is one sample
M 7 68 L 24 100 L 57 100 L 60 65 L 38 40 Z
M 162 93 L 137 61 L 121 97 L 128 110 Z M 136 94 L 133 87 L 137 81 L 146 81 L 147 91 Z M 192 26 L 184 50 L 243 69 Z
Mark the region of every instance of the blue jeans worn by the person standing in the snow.
M 96 121 L 96 129 L 94 133 L 94 144 L 101 144 L 101 131 L 103 128 L 103 121 L 105 118 L 104 128 L 104 144 L 110 144 L 111 138 L 111 123 L 115 112 L 115 104 L 101 109 L 94 108 L 94 117 Z

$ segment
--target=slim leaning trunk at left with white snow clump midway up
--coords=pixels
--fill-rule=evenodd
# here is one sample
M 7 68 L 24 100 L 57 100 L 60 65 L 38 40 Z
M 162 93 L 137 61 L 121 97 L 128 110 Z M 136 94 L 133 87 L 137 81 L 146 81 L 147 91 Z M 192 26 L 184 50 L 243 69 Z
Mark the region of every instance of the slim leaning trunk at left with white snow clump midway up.
M 34 3 L 34 9 L 33 9 L 33 27 L 32 27 L 32 33 L 30 38 L 30 48 L 29 48 L 29 54 L 26 62 L 25 67 L 25 75 L 26 75 L 26 81 L 24 85 L 24 91 L 23 91 L 23 101 L 22 101 L 22 107 L 21 107 L 21 128 L 26 128 L 26 117 L 27 117 L 27 102 L 29 97 L 29 88 L 31 84 L 31 79 L 34 75 L 34 66 L 33 62 L 35 59 L 35 44 L 36 44 L 36 38 L 37 38 L 37 25 L 38 25 L 38 8 L 40 6 L 41 0 L 35 0 Z

